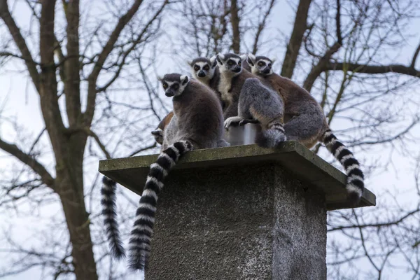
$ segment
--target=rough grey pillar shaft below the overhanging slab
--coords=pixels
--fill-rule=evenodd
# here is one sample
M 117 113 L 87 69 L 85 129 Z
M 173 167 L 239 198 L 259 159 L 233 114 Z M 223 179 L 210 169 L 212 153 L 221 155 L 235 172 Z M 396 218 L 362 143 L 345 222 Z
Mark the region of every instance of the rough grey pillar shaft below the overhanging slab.
M 154 279 L 326 279 L 324 195 L 276 164 L 183 170 L 158 203 Z

